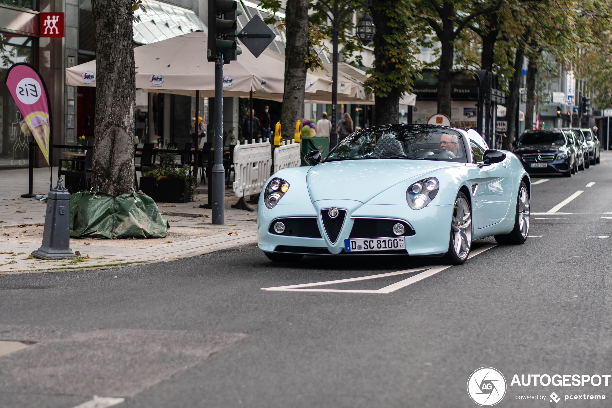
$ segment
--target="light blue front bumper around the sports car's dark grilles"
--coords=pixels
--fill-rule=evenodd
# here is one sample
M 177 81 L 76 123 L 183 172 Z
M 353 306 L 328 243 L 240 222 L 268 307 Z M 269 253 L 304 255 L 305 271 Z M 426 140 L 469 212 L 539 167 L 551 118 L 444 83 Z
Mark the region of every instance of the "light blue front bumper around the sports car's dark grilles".
M 258 205 L 257 241 L 259 249 L 266 252 L 303 253 L 316 255 L 335 254 L 410 254 L 431 255 L 446 253 L 449 248 L 452 204 L 427 206 L 412 210 L 406 205 L 362 204 L 351 200 L 323 200 L 315 204 L 277 204 L 273 209 Z M 321 221 L 321 209 L 337 207 L 346 209 L 346 217 L 335 242 L 330 242 Z M 280 236 L 269 231 L 272 221 L 283 217 L 316 217 L 321 238 Z M 408 223 L 415 234 L 406 236 L 405 251 L 376 251 L 373 253 L 347 253 L 344 240 L 348 239 L 356 218 L 390 218 Z

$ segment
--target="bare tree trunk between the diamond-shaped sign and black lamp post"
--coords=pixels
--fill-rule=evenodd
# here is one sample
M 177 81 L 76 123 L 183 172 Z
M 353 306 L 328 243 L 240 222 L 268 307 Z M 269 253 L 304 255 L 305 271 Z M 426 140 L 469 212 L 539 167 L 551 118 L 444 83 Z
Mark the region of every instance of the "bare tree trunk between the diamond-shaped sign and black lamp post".
M 283 136 L 292 137 L 303 119 L 308 54 L 308 0 L 288 0 L 286 6 L 285 94 L 280 111 Z M 334 124 L 332 124 L 334 125 Z

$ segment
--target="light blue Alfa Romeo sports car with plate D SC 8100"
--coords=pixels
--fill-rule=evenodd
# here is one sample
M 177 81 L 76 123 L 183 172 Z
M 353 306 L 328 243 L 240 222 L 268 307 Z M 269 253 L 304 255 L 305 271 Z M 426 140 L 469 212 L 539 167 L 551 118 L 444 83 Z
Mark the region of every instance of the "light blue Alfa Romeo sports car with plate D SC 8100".
M 278 171 L 259 196 L 258 245 L 272 261 L 409 254 L 462 264 L 474 239 L 529 234 L 529 174 L 475 130 L 376 126 L 305 160 L 312 167 Z

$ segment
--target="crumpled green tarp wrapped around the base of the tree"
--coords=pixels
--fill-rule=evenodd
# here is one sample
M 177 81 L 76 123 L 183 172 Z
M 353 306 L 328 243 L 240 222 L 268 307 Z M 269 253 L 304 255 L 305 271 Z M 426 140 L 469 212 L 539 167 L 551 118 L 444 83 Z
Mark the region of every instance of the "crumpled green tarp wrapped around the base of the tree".
M 140 193 L 113 198 L 80 191 L 70 196 L 70 236 L 87 238 L 164 238 L 168 221 L 155 201 Z

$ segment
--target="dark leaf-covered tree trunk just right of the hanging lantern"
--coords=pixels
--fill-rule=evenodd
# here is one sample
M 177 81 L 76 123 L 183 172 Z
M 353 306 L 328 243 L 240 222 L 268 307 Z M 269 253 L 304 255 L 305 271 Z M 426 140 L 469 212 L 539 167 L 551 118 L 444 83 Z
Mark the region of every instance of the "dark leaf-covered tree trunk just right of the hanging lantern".
M 387 46 L 386 38 L 392 37 L 394 34 L 394 28 L 387 25 L 389 23 L 387 15 L 389 11 L 381 10 L 381 7 L 371 7 L 370 12 L 376 26 L 376 35 L 374 36 L 375 70 L 392 75 L 395 71 L 395 64 L 389 63 L 389 56 L 384 52 Z M 391 87 L 386 97 L 375 95 L 376 125 L 397 124 L 399 122 L 400 97 L 397 87 Z

